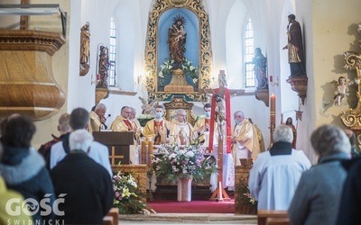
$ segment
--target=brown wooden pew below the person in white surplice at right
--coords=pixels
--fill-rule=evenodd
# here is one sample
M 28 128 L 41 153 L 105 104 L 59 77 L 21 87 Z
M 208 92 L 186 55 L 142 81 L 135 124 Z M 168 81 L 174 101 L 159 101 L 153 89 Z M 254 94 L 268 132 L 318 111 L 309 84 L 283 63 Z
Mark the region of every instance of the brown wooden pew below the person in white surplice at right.
M 264 211 L 259 210 L 258 225 L 289 225 L 287 211 Z

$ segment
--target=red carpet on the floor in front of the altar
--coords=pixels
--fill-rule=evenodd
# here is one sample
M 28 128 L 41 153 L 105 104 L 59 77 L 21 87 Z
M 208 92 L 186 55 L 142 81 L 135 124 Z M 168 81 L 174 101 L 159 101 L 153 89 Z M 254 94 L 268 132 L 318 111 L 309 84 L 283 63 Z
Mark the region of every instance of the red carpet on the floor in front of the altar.
M 235 213 L 235 201 L 228 202 L 157 200 L 147 202 L 147 208 L 157 213 Z

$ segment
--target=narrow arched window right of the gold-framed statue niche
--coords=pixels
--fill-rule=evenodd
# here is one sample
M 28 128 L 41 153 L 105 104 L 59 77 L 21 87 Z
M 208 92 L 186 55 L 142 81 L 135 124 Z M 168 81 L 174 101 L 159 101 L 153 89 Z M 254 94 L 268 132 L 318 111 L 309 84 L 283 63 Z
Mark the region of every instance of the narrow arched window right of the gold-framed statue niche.
M 245 27 L 245 88 L 255 87 L 255 73 L 252 64 L 254 53 L 254 28 L 250 18 Z

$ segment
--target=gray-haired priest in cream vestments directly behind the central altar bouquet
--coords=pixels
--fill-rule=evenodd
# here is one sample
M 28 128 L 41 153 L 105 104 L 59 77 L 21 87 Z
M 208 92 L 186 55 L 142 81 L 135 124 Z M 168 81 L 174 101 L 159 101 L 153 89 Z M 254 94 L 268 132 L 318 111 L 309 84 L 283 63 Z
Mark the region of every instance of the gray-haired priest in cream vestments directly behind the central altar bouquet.
M 195 138 L 193 126 L 187 121 L 187 112 L 179 109 L 176 117 L 171 121 L 171 136 L 175 137 L 175 143 L 179 145 L 187 145 L 191 139 Z

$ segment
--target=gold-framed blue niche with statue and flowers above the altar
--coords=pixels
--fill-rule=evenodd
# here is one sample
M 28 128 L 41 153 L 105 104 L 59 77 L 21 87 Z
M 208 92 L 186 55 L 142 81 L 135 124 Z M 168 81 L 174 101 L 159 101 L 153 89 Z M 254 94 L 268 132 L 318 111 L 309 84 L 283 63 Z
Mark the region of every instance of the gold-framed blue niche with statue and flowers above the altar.
M 145 50 L 150 98 L 205 101 L 210 84 L 211 49 L 208 14 L 199 0 L 153 4 Z

